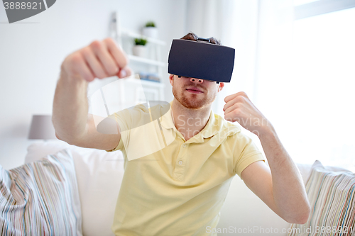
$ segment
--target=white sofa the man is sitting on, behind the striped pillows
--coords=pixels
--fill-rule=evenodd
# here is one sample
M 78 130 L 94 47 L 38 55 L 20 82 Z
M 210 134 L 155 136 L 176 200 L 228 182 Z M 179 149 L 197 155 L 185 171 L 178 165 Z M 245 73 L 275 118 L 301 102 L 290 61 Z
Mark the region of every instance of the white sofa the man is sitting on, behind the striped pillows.
M 124 174 L 121 152 L 105 152 L 67 145 L 65 142 L 34 142 L 28 147 L 26 163 L 70 148 L 75 163 L 82 208 L 83 235 L 113 235 L 111 224 Z M 307 179 L 310 165 L 299 165 Z M 266 206 L 239 176 L 231 182 L 216 229 L 218 235 L 287 235 L 290 226 Z M 234 234 L 234 232 L 236 232 Z

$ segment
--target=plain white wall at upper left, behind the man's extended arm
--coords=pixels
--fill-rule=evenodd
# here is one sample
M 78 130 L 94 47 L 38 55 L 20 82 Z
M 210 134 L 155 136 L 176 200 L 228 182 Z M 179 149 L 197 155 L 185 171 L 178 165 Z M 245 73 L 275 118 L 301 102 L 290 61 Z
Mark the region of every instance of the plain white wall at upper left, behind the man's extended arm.
M 186 0 L 59 0 L 50 9 L 9 24 L 0 4 L 0 164 L 23 163 L 33 114 L 51 114 L 60 64 L 66 55 L 109 35 L 111 13 L 121 26 L 140 30 L 155 21 L 167 42 L 185 35 Z M 165 69 L 166 71 L 166 69 Z M 173 99 L 166 74 L 165 100 Z

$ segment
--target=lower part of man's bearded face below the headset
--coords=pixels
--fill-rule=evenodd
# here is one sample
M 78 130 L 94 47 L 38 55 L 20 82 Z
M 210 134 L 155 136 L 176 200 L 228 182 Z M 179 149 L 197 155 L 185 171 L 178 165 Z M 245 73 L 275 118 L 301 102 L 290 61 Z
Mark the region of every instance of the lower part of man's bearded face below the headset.
M 224 83 L 190 77 L 178 77 L 170 74 L 170 84 L 173 86 L 173 95 L 182 106 L 190 109 L 200 109 L 209 106 L 217 93 L 222 90 Z

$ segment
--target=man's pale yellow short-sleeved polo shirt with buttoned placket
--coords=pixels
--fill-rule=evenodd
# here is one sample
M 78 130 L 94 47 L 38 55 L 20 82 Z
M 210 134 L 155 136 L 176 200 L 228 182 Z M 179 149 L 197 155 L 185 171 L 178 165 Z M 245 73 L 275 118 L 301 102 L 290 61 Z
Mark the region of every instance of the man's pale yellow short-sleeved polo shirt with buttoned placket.
M 249 164 L 265 159 L 239 126 L 213 111 L 201 132 L 187 141 L 175 128 L 171 108 L 158 120 L 151 118 L 145 130 L 146 120 L 141 120 L 151 117 L 149 111 L 163 110 L 136 106 L 109 116 L 121 129 L 114 150 L 121 150 L 125 159 L 112 230 L 125 236 L 213 235 L 207 229 L 217 227 L 235 174 L 241 177 Z

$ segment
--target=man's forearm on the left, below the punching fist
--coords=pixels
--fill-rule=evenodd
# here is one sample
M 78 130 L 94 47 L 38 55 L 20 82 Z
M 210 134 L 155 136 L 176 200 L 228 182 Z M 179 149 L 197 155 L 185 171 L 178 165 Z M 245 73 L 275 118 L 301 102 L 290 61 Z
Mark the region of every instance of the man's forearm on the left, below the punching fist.
M 80 77 L 61 72 L 53 101 L 53 125 L 60 140 L 72 144 L 84 135 L 87 124 L 87 84 Z

